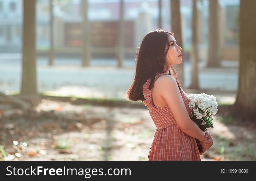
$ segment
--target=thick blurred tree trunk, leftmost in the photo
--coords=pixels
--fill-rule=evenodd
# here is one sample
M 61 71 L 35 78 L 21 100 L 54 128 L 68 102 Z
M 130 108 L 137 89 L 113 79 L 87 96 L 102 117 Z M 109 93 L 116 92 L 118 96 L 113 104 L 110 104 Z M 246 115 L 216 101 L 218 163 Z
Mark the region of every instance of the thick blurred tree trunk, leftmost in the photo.
M 36 34 L 35 34 L 35 0 L 23 0 L 22 28 L 22 83 L 21 92 L 24 98 L 34 105 L 38 104 L 36 82 Z

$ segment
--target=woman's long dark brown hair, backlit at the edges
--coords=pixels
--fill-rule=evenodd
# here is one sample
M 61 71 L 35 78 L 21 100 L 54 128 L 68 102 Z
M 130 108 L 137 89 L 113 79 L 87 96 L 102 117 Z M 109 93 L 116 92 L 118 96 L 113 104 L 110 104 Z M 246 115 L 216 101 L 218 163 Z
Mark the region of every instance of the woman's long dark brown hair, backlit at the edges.
M 155 76 L 157 72 L 165 73 L 168 70 L 168 63 L 166 60 L 166 53 L 170 48 L 168 35 L 174 37 L 173 32 L 157 29 L 148 32 L 138 49 L 136 64 L 135 64 L 135 78 L 131 87 L 127 91 L 127 98 L 131 101 L 144 101 L 142 93 L 143 85 L 150 78 L 149 89 L 153 88 Z M 166 49 L 167 45 L 167 50 Z M 177 79 L 177 73 L 173 66 L 171 66 L 174 77 Z M 170 73 L 169 75 L 173 76 Z

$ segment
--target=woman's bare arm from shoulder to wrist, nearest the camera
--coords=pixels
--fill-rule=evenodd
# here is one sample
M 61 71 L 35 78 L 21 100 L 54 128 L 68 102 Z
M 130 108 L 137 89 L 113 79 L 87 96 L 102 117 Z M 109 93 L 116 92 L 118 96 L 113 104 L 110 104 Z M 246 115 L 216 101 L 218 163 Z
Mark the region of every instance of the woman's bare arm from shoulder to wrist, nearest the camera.
M 207 140 L 205 132 L 190 119 L 176 80 L 169 75 L 163 75 L 159 77 L 154 86 L 170 107 L 179 128 L 193 138 Z

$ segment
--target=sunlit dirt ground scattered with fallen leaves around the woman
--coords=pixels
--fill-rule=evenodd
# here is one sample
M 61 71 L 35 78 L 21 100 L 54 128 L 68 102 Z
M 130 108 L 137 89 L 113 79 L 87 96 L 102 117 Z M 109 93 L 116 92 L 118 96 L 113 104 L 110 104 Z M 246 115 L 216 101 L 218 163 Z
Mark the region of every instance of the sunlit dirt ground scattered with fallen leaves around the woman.
M 33 115 L 0 120 L 0 160 L 147 160 L 155 125 L 147 107 L 72 105 L 43 99 Z M 256 160 L 255 126 L 221 106 L 201 160 Z M 4 153 L 6 157 L 3 158 Z

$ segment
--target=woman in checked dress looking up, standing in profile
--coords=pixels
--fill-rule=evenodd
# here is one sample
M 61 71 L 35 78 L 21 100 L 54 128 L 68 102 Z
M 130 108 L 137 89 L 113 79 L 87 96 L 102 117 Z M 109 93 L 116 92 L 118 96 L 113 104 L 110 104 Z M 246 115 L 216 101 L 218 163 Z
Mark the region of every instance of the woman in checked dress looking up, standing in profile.
M 181 51 L 174 34 L 159 29 L 147 33 L 138 50 L 127 97 L 143 101 L 156 125 L 148 160 L 201 160 L 200 155 L 213 144 L 209 132 L 203 132 L 189 117 L 189 98 L 173 68 L 182 62 Z M 195 138 L 200 140 L 201 153 Z

